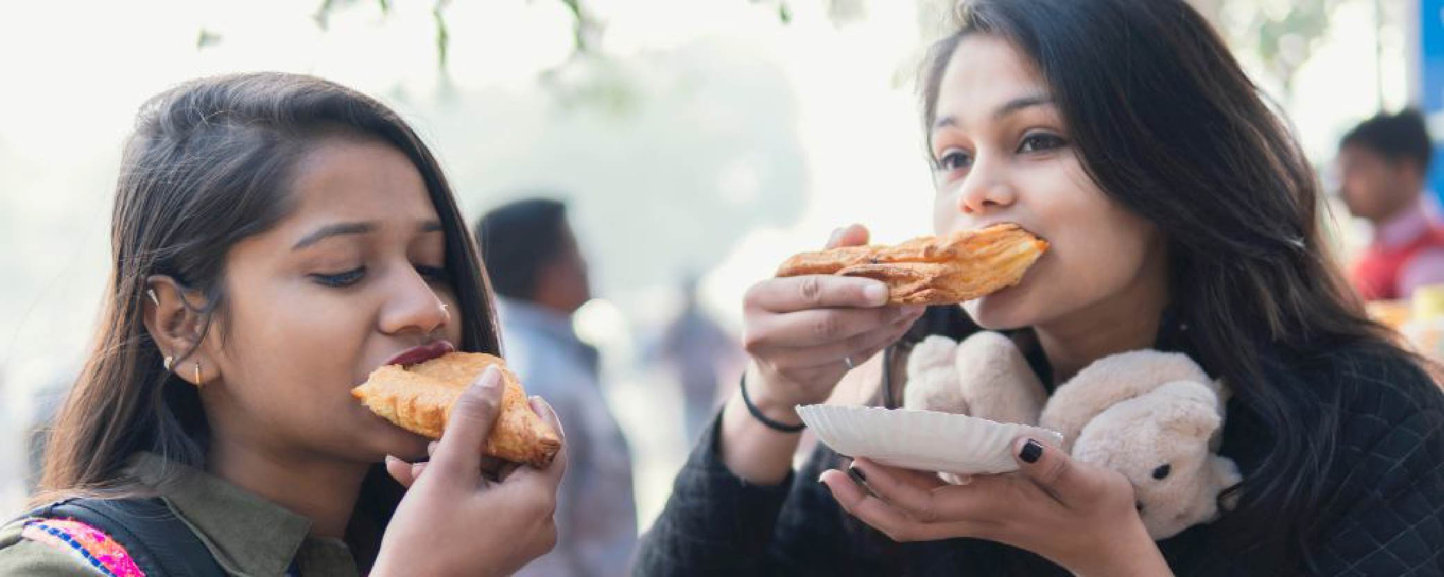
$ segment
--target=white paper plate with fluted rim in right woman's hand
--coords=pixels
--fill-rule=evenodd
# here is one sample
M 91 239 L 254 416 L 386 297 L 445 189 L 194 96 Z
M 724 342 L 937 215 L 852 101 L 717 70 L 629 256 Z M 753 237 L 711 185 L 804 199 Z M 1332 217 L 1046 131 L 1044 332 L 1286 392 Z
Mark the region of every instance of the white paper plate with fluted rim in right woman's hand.
M 1018 470 L 1012 441 L 1028 434 L 1063 443 L 1063 436 L 1019 423 L 905 408 L 800 405 L 797 414 L 839 454 L 915 470 L 992 475 Z

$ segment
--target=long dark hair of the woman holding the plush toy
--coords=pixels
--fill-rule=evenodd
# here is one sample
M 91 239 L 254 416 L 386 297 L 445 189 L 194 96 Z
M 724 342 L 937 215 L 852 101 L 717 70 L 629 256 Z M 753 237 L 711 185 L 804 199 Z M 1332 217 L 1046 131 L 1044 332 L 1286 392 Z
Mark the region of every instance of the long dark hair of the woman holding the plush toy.
M 1266 430 L 1219 534 L 1291 570 L 1318 529 L 1340 415 L 1330 392 L 1268 365 L 1350 345 L 1408 355 L 1327 254 L 1318 185 L 1288 127 L 1183 0 L 972 0 L 954 16 L 924 63 L 924 130 L 965 38 L 995 35 L 1032 59 L 1087 175 L 1167 237 L 1188 352 Z

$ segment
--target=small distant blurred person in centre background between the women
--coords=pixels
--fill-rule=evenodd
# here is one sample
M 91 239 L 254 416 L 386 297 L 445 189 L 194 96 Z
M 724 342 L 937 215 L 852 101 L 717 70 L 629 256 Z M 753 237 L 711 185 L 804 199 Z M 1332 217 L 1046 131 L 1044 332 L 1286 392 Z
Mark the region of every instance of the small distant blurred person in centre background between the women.
M 682 414 L 687 440 L 706 427 L 731 387 L 721 387 L 742 374 L 738 340 L 702 307 L 697 276 L 682 278 L 682 306 L 663 327 L 644 359 L 666 368 L 682 389 Z

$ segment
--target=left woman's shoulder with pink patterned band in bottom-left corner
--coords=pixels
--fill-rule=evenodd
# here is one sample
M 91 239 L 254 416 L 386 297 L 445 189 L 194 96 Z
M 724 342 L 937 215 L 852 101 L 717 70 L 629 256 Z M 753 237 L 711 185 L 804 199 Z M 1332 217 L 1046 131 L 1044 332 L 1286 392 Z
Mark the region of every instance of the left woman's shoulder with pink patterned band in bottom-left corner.
M 78 521 L 26 518 L 0 528 L 0 577 L 143 577 L 118 542 Z

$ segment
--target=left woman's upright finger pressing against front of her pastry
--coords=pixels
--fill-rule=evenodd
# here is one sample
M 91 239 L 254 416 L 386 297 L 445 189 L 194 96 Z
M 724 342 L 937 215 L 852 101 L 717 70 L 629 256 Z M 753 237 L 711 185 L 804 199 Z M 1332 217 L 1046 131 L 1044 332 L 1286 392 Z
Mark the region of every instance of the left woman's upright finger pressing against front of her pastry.
M 462 391 L 446 417 L 446 430 L 432 454 L 432 475 L 448 479 L 479 482 L 481 452 L 491 434 L 491 427 L 501 413 L 501 398 L 505 387 L 501 371 L 487 366 L 471 387 Z

